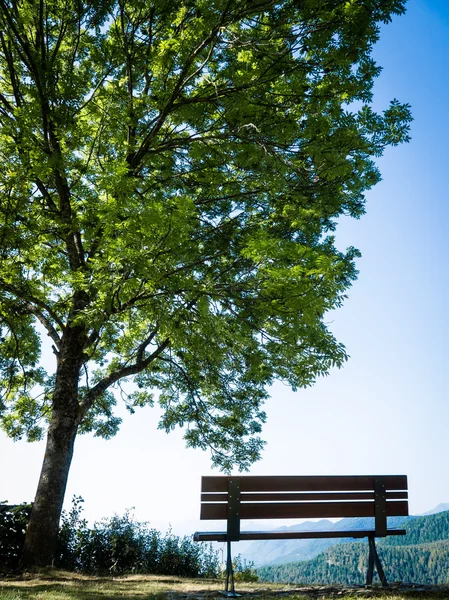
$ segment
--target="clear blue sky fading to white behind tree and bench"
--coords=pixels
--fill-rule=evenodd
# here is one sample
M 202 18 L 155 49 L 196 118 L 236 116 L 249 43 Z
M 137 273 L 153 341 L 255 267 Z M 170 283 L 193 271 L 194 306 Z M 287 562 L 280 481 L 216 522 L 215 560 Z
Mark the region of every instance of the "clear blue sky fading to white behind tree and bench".
M 383 181 L 368 194 L 367 214 L 337 232 L 342 249 L 363 255 L 345 306 L 329 317 L 351 358 L 311 389 L 272 388 L 268 443 L 251 473 L 405 473 L 419 514 L 449 502 L 449 3 L 409 0 L 407 14 L 383 29 L 375 58 L 384 69 L 376 109 L 396 97 L 415 121 L 411 143 L 379 161 Z M 201 528 L 209 456 L 157 422 L 157 409 L 144 409 L 125 414 L 113 440 L 78 438 L 67 504 L 77 494 L 91 520 L 135 507 L 154 527 Z M 43 450 L 0 433 L 0 500 L 33 499 Z

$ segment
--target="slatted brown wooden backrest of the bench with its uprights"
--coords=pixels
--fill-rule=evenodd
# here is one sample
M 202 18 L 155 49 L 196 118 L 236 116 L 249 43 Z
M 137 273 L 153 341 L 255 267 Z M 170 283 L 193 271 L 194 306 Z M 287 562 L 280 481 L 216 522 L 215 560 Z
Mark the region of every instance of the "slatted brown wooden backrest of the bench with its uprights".
M 387 517 L 408 516 L 406 475 L 206 476 L 201 482 L 201 519 L 227 520 L 238 540 L 241 519 L 374 517 L 376 536 Z

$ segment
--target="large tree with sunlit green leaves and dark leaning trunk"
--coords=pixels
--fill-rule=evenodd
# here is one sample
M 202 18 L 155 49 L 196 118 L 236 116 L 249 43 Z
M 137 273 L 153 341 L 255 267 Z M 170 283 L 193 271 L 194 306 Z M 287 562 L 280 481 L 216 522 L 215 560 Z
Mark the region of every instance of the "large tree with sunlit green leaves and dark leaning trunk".
M 47 433 L 24 566 L 52 562 L 76 435 L 116 433 L 121 382 L 247 468 L 267 386 L 345 361 L 324 319 L 357 251 L 332 232 L 408 137 L 407 105 L 370 107 L 403 5 L 0 0 L 0 411 Z

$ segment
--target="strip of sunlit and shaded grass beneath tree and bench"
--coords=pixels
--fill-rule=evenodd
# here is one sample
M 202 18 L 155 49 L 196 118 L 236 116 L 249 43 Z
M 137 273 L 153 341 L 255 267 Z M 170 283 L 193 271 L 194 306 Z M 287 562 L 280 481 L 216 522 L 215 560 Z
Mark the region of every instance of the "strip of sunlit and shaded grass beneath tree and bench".
M 308 586 L 295 588 L 266 583 L 240 583 L 236 588 L 243 597 L 263 600 L 449 600 L 449 588 L 423 591 L 420 588 L 388 592 L 379 588 L 348 589 L 343 586 Z M 64 571 L 25 574 L 0 579 L 0 600 L 210 600 L 221 598 L 223 582 L 218 580 L 181 579 L 156 575 L 128 577 L 87 577 Z

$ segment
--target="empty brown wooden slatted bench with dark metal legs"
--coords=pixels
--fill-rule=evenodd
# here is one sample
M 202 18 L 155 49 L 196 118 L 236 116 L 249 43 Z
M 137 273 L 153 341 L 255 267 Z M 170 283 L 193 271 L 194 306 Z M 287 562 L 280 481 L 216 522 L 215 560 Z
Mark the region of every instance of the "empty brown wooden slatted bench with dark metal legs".
M 366 583 L 374 565 L 383 586 L 387 579 L 375 538 L 405 535 L 391 529 L 387 517 L 408 516 L 406 475 L 202 477 L 201 519 L 224 520 L 226 531 L 196 532 L 194 540 L 227 543 L 225 594 L 235 595 L 231 542 L 308 538 L 364 538 L 369 541 Z M 369 529 L 341 531 L 241 531 L 242 519 L 327 519 L 374 517 Z

